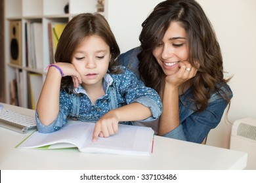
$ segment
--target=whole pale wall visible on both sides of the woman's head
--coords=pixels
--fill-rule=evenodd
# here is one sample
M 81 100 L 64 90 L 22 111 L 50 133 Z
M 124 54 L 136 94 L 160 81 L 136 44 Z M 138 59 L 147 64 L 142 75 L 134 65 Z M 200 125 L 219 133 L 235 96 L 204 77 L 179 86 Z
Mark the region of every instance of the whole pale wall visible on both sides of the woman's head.
M 161 0 L 105 0 L 106 17 L 119 43 L 121 52 L 139 45 L 141 24 Z M 223 52 L 224 71 L 234 75 L 230 87 L 234 92 L 228 118 L 256 119 L 256 1 L 198 0 L 215 27 Z M 112 7 L 112 8 L 110 8 Z M 229 148 L 231 125 L 224 117 L 209 133 L 207 144 Z

